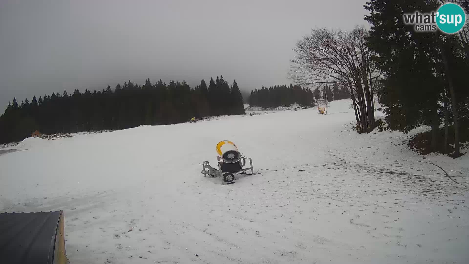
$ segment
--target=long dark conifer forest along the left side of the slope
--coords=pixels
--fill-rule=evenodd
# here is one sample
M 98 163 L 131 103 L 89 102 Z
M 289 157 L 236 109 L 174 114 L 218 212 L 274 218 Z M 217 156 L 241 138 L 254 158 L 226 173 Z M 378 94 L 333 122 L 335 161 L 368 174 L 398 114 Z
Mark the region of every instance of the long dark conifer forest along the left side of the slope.
M 208 84 L 202 80 L 194 88 L 185 81 L 153 84 L 147 79 L 140 86 L 129 80 L 102 91 L 63 91 L 21 102 L 14 98 L 0 116 L 0 143 L 23 140 L 35 130 L 50 134 L 125 129 L 244 113 L 238 84 L 230 86 L 222 76 Z

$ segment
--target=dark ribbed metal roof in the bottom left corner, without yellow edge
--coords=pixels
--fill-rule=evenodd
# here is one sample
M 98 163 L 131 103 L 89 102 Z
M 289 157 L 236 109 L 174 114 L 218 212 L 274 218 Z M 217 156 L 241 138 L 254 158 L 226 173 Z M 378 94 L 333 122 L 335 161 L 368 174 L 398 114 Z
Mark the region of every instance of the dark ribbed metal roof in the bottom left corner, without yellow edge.
M 53 264 L 61 211 L 0 214 L 2 263 Z

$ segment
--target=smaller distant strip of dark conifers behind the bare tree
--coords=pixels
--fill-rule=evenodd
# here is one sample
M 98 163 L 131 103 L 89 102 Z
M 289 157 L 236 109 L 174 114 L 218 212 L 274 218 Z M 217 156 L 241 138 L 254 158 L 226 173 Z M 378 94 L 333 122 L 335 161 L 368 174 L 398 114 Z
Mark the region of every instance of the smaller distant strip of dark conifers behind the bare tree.
M 315 106 L 320 99 L 327 98 L 327 101 L 350 98 L 348 90 L 340 88 L 338 84 L 333 86 L 324 85 L 316 87 L 314 90 L 301 87 L 301 85 L 274 85 L 266 88 L 262 86 L 259 90 L 251 91 L 249 97 L 250 106 L 265 108 L 275 108 L 282 105 L 299 103 L 305 106 Z

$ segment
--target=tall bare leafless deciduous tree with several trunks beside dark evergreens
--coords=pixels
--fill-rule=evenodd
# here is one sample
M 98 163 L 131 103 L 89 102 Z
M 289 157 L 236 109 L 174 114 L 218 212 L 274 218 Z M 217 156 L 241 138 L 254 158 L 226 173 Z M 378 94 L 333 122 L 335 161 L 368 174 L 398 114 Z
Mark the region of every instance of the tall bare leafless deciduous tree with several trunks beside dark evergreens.
M 365 44 L 363 26 L 353 31 L 314 29 L 294 48 L 290 79 L 303 85 L 338 83 L 349 88 L 357 130 L 371 132 L 375 127 L 373 92 L 382 71 L 374 51 Z

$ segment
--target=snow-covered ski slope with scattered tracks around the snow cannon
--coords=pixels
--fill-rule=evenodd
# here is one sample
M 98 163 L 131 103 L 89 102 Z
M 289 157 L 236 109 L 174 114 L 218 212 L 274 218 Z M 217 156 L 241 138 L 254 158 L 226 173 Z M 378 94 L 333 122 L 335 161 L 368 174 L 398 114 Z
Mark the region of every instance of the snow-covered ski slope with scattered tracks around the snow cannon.
M 359 135 L 349 105 L 28 139 L 0 155 L 0 211 L 64 210 L 73 264 L 469 263 L 469 155 Z M 204 178 L 220 140 L 277 171 Z

